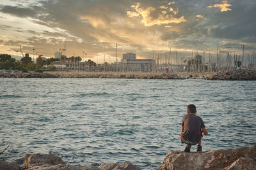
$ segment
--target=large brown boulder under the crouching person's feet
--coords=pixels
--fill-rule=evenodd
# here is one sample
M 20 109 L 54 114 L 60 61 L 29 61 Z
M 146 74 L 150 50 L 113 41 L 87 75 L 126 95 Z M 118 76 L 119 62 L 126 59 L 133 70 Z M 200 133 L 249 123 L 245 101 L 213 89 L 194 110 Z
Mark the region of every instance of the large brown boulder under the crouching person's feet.
M 157 170 L 168 169 L 256 169 L 256 145 L 208 152 L 170 150 Z

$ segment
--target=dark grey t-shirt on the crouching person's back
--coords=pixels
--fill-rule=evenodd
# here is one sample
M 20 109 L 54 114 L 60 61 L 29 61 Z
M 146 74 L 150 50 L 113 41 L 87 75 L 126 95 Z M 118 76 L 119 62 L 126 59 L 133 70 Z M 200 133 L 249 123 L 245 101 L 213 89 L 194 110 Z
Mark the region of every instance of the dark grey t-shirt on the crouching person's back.
M 201 128 L 205 127 L 202 118 L 194 114 L 186 114 L 182 118 L 182 126 L 184 126 L 184 131 L 181 133 L 182 139 L 193 143 L 200 141 Z

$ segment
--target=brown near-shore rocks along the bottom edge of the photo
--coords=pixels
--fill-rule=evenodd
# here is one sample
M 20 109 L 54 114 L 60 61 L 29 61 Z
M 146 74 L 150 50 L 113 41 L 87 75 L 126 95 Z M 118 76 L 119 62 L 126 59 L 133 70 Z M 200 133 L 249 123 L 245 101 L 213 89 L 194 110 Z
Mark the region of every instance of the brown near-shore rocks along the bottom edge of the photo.
M 0 169 L 4 170 L 140 170 L 130 162 L 120 164 L 102 163 L 95 166 L 71 166 L 60 157 L 49 154 L 26 154 L 23 166 L 0 160 Z M 168 169 L 256 169 L 256 145 L 207 152 L 182 152 L 170 150 L 157 170 Z

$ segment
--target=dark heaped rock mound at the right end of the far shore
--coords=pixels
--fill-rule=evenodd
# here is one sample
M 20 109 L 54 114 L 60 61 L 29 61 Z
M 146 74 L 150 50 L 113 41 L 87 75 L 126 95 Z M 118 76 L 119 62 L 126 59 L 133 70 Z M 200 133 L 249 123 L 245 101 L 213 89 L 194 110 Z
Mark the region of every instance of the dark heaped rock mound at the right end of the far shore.
M 205 80 L 256 80 L 256 71 L 234 70 L 220 71 L 217 74 L 205 78 Z

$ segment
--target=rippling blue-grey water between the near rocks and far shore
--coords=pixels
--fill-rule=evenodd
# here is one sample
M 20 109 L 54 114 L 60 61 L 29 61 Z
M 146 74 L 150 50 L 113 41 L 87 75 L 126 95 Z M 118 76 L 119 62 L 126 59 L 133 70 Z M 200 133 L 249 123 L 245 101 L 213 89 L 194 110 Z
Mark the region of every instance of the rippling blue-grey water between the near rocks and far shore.
M 0 149 L 11 144 L 1 159 L 20 165 L 25 153 L 51 153 L 156 169 L 168 150 L 184 150 L 191 103 L 209 131 L 203 150 L 256 143 L 255 81 L 0 78 L 0 92 Z

